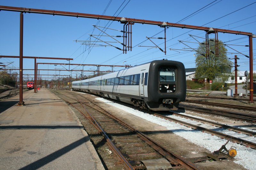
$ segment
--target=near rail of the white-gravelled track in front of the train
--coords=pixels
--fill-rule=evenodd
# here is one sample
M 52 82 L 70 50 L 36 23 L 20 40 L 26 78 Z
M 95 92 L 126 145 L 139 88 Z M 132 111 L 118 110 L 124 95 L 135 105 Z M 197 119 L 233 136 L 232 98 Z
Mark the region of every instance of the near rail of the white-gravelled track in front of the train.
M 247 140 L 244 140 L 244 139 L 240 139 L 240 138 L 237 138 L 237 137 L 233 137 L 233 136 L 230 136 L 230 135 L 227 135 L 227 134 L 223 134 L 223 133 L 211 130 L 211 129 L 203 128 L 203 127 L 200 127 L 200 126 L 188 123 L 188 122 L 183 122 L 183 121 L 180 121 L 180 120 L 177 120 L 177 119 L 174 119 L 174 118 L 171 118 L 171 117 L 167 117 L 167 116 L 164 116 L 164 115 L 160 115 L 160 114 L 156 114 L 156 113 L 154 113 L 154 115 L 157 116 L 157 117 L 161 117 L 163 119 L 172 121 L 172 122 L 179 123 L 180 125 L 186 126 L 188 128 L 200 130 L 202 132 L 206 132 L 206 133 L 209 133 L 211 135 L 215 135 L 215 136 L 223 138 L 223 139 L 229 140 L 231 138 L 231 141 L 234 141 L 237 144 L 242 144 L 246 147 L 256 149 L 256 143 L 253 143 L 253 142 L 250 142 L 250 141 L 247 141 Z

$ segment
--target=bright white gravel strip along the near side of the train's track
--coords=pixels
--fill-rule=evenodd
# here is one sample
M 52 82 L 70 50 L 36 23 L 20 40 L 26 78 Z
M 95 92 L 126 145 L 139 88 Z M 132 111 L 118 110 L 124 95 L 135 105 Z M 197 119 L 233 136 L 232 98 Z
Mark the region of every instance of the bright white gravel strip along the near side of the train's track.
M 220 137 L 212 136 L 210 134 L 203 133 L 201 131 L 182 126 L 178 123 L 170 122 L 165 119 L 143 113 L 141 111 L 114 103 L 112 101 L 109 101 L 109 100 L 106 100 L 103 98 L 96 98 L 96 99 L 100 100 L 104 103 L 107 103 L 111 106 L 122 109 L 132 115 L 136 115 L 145 120 L 148 120 L 150 122 L 153 122 L 153 123 L 156 123 L 163 127 L 166 127 L 167 129 L 172 130 L 172 132 L 175 133 L 176 135 L 183 137 L 183 138 L 187 139 L 189 142 L 192 142 L 198 146 L 204 147 L 204 148 L 208 149 L 210 152 L 219 150 L 220 147 L 227 142 L 226 139 L 221 139 Z M 200 118 L 199 116 L 197 116 L 197 117 Z M 202 118 L 202 119 L 204 119 L 204 118 Z M 226 129 L 218 128 L 218 131 L 223 131 L 223 130 L 226 131 Z M 233 132 L 233 131 L 229 131 L 226 133 L 232 133 L 232 134 L 236 135 L 236 132 Z M 254 138 L 254 137 L 252 137 L 252 138 Z M 232 143 L 232 142 L 229 142 L 226 145 L 226 147 L 228 149 L 231 146 L 236 147 L 236 151 L 237 151 L 237 155 L 235 157 L 236 160 L 234 161 L 235 163 L 244 166 L 244 168 L 246 168 L 246 169 L 250 169 L 250 170 L 256 169 L 256 150 L 247 148 L 243 145 Z

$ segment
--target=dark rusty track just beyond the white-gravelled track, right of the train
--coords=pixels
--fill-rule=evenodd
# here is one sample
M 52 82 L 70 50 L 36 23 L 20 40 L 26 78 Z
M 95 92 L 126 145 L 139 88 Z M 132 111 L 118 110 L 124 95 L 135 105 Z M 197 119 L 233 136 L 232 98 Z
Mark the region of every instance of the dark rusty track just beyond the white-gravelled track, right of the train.
M 203 112 L 203 113 L 209 113 L 214 115 L 221 115 L 221 116 L 228 116 L 232 117 L 234 119 L 248 121 L 248 122 L 256 122 L 256 115 L 246 115 L 244 113 L 238 113 L 238 112 L 230 112 L 225 110 L 218 110 L 218 109 L 211 109 L 211 108 L 204 108 L 204 107 L 198 107 L 198 106 L 189 106 L 189 105 L 179 105 L 180 108 L 185 108 L 188 110 L 193 110 L 197 112 Z M 248 117 L 251 116 L 251 117 Z

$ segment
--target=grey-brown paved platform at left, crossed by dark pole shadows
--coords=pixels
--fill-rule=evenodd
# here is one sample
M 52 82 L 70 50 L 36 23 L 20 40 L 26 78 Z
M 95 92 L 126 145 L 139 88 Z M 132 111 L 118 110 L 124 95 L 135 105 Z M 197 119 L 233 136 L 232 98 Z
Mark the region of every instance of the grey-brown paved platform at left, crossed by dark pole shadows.
M 23 98 L 0 101 L 0 169 L 104 169 L 67 104 L 46 88 Z

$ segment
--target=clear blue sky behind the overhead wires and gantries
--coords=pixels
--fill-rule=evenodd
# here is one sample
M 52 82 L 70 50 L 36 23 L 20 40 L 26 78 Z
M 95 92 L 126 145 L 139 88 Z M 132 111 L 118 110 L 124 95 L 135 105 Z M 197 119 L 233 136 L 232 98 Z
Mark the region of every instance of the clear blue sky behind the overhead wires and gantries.
M 188 15 L 203 8 L 207 4 L 214 2 L 214 0 L 183 0 L 183 1 L 166 1 L 166 0 L 1 0 L 0 5 L 36 8 L 55 11 L 70 11 L 81 12 L 89 14 L 101 15 L 106 9 L 104 15 L 118 16 L 126 18 L 137 18 L 154 21 L 165 21 L 176 23 Z M 124 2 L 123 5 L 121 5 Z M 180 22 L 180 24 L 207 26 L 213 28 L 231 29 L 236 31 L 256 33 L 256 2 L 255 0 L 217 0 L 211 5 L 205 7 L 200 13 Z M 128 4 L 127 4 L 128 3 Z M 126 5 L 127 4 L 127 5 Z M 252 4 L 244 9 L 236 11 L 244 6 Z M 125 6 L 126 5 L 126 6 Z M 120 7 L 121 6 L 121 7 Z M 124 7 L 125 6 L 125 7 Z M 120 9 L 118 10 L 118 8 Z M 206 9 L 207 8 L 207 9 Z M 121 12 L 120 12 L 121 11 Z M 236 11 L 226 17 L 233 11 Z M 253 12 L 254 11 L 254 12 Z M 116 13 L 116 14 L 115 14 Z M 118 15 L 117 15 L 118 14 Z M 214 22 L 211 22 L 220 18 Z M 12 11 L 0 11 L 0 55 L 19 55 L 19 25 L 20 13 Z M 99 21 L 99 22 L 98 22 Z M 206 24 L 211 22 L 209 24 Z M 154 46 L 150 41 L 145 41 L 146 36 L 151 37 L 159 33 L 163 28 L 153 25 L 134 24 L 132 26 L 132 52 L 127 51 L 127 54 L 121 54 L 122 51 L 114 47 L 85 47 L 81 43 L 76 43 L 73 40 L 88 40 L 88 34 L 100 34 L 99 30 L 93 31 L 92 25 L 109 26 L 109 28 L 122 30 L 123 24 L 117 21 L 97 20 L 89 18 L 76 18 L 65 16 L 53 16 L 44 14 L 24 13 L 24 56 L 43 56 L 43 57 L 61 57 L 74 58 L 71 63 L 78 64 L 106 64 L 106 65 L 137 65 L 146 63 L 155 59 L 167 58 L 168 60 L 175 60 L 184 63 L 185 68 L 195 67 L 195 52 L 177 53 L 171 51 L 169 48 L 187 48 L 185 45 L 178 43 L 178 40 L 196 42 L 189 37 L 188 34 L 204 37 L 204 31 L 169 28 L 166 31 L 166 46 L 167 53 L 164 55 L 158 48 L 148 49 L 141 46 Z M 206 24 L 206 25 L 205 25 Z M 189 33 L 186 33 L 190 31 Z M 110 35 L 122 35 L 120 32 L 107 30 Z M 182 35 L 183 34 L 183 35 Z M 164 37 L 164 33 L 160 33 L 155 37 Z M 176 37 L 176 38 L 175 38 Z M 214 38 L 214 34 L 210 36 Z M 249 45 L 248 38 L 243 35 L 219 33 L 219 40 L 227 42 L 227 44 Z M 242 38 L 242 39 L 239 39 Z M 113 41 L 108 37 L 101 37 L 103 41 Z M 116 38 L 118 41 L 123 41 L 122 38 Z M 236 41 L 232 41 L 239 39 Z M 255 38 L 256 39 L 256 38 Z M 253 49 L 255 49 L 255 39 L 253 39 Z M 94 41 L 95 39 L 91 39 Z M 198 39 L 203 41 L 203 39 Z M 145 41 L 145 42 L 143 42 Z M 163 40 L 152 39 L 160 48 L 164 49 Z M 143 42 L 143 43 L 141 43 Z M 140 44 L 141 43 L 141 44 Z M 99 43 L 103 44 L 103 43 Z M 112 45 L 122 48 L 121 44 L 112 43 Z M 198 44 L 189 43 L 188 45 L 196 48 Z M 249 47 L 232 46 L 236 50 L 245 55 L 249 55 Z M 228 48 L 227 48 L 228 49 Z M 228 49 L 228 52 L 235 52 Z M 255 70 L 255 50 L 254 53 L 254 70 Z M 228 55 L 233 57 L 233 55 Z M 243 55 L 239 55 L 240 60 L 238 64 L 241 65 L 238 70 L 249 70 L 249 59 Z M 9 66 L 12 68 L 19 67 L 19 60 L 13 58 L 0 58 L 1 63 L 14 62 Z M 38 59 L 39 63 L 68 63 L 66 60 L 44 60 Z M 38 69 L 64 69 L 68 66 L 54 66 L 54 65 L 39 65 Z M 82 69 L 82 66 L 70 66 L 70 69 Z M 34 60 L 24 59 L 23 69 L 33 69 Z M 97 67 L 84 66 L 84 70 L 96 70 Z M 121 68 L 115 67 L 114 70 Z M 109 67 L 100 67 L 100 70 L 111 70 Z M 18 71 L 17 71 L 18 72 Z M 24 71 L 24 74 L 33 74 L 33 71 Z M 59 74 L 59 71 L 40 71 L 40 74 Z M 60 74 L 70 75 L 68 71 L 61 71 Z M 81 72 L 72 72 L 72 76 L 81 74 Z M 90 75 L 91 72 L 85 72 L 84 75 Z

